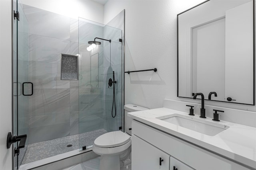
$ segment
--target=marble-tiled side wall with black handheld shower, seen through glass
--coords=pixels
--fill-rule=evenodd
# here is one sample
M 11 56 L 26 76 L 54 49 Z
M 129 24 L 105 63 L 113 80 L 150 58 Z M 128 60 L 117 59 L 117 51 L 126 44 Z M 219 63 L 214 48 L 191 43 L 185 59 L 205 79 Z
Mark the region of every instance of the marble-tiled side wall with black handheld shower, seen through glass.
M 112 114 L 115 114 L 114 109 L 112 113 L 113 86 L 108 88 L 108 84 L 106 83 L 104 88 L 104 94 L 106 96 L 104 102 L 104 129 L 107 131 L 116 131 L 122 126 L 122 43 L 119 42 L 119 39 L 122 39 L 122 30 L 106 25 L 104 26 L 104 38 L 111 39 L 111 48 L 110 43 L 104 43 L 104 80 L 108 81 L 109 78 L 113 79 L 112 72 L 114 71 L 115 80 L 117 82 L 115 84 L 115 118 L 112 117 Z

